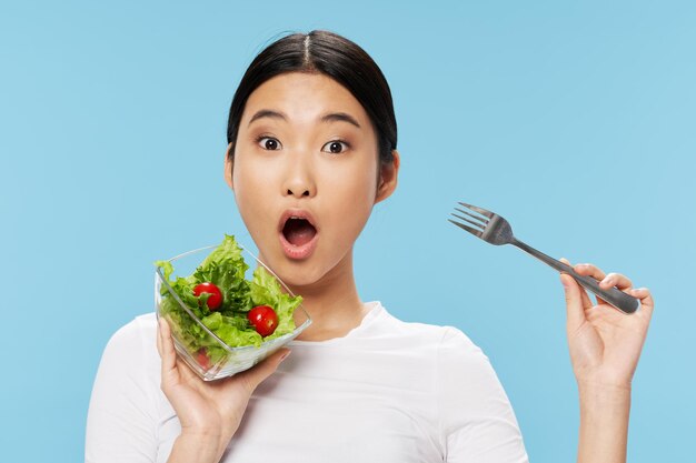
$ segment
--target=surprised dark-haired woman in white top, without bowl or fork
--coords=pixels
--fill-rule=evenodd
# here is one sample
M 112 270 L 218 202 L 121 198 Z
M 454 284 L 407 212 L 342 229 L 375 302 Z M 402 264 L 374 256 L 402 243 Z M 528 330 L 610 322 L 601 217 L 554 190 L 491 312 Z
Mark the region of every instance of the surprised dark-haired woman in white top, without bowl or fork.
M 235 94 L 228 142 L 225 179 L 260 259 L 302 295 L 314 323 L 289 350 L 203 383 L 177 359 L 166 322 L 136 319 L 105 351 L 86 460 L 527 461 L 509 401 L 466 335 L 404 323 L 358 295 L 352 248 L 400 162 L 389 87 L 370 57 L 325 31 L 270 44 Z M 627 316 L 561 275 L 578 461 L 623 462 L 653 301 L 626 276 L 575 269 L 642 301 Z

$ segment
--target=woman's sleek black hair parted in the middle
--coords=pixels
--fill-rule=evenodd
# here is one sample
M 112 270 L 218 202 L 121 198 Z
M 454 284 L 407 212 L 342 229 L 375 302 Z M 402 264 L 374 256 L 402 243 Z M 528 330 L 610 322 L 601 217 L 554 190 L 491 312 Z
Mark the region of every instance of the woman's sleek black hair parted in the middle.
M 390 162 L 397 129 L 391 91 L 377 63 L 357 43 L 329 31 L 294 33 L 278 39 L 249 64 L 232 98 L 227 142 L 233 155 L 239 122 L 249 95 L 267 80 L 286 72 L 322 73 L 344 85 L 360 102 L 377 133 L 379 159 Z

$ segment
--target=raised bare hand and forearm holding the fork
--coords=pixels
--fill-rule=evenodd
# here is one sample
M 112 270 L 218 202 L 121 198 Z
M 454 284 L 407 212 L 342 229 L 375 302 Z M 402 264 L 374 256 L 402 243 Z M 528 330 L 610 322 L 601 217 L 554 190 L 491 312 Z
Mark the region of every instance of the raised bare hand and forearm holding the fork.
M 640 309 L 626 315 L 601 299 L 594 304 L 573 278 L 560 276 L 566 292 L 570 361 L 580 395 L 577 461 L 623 463 L 626 461 L 630 384 L 653 316 L 653 298 L 645 288 L 634 289 L 630 280 L 622 274 L 605 274 L 591 264 L 574 269 L 596 279 L 604 289 L 617 286 L 640 300 Z

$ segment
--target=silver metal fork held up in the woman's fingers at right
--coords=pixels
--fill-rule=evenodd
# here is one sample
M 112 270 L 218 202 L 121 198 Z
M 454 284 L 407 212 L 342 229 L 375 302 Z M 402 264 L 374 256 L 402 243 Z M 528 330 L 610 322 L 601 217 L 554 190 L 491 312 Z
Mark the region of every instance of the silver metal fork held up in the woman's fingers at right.
M 490 244 L 513 244 L 514 246 L 521 249 L 523 251 L 534 255 L 541 262 L 553 266 L 557 271 L 561 273 L 568 273 L 583 288 L 597 294 L 604 301 L 608 302 L 609 304 L 614 305 L 625 313 L 633 313 L 638 310 L 640 302 L 636 298 L 626 294 L 616 286 L 610 288 L 609 290 L 603 290 L 601 288 L 599 288 L 599 284 L 595 279 L 576 273 L 575 270 L 573 270 L 573 268 L 570 268 L 569 265 L 566 265 L 565 263 L 559 262 L 556 259 L 553 259 L 516 239 L 513 234 L 513 228 L 510 227 L 509 222 L 503 219 L 500 215 L 487 211 L 486 209 L 467 204 L 465 202 L 460 202 L 459 204 L 467 208 L 470 212 L 467 212 L 459 208 L 455 208 L 457 212 L 460 212 L 466 217 L 456 214 L 454 212 L 451 215 L 454 215 L 456 219 L 465 221 L 466 223 L 468 223 L 468 225 L 459 221 L 447 219 L 455 225 L 460 227 L 473 235 L 478 236 L 481 240 L 489 242 Z

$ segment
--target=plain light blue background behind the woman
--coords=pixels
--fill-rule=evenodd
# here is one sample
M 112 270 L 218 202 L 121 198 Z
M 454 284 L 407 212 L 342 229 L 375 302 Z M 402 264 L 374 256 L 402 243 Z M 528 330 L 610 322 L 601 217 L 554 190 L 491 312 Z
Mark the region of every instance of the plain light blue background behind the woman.
M 37 2 L 0 8 L 2 460 L 74 462 L 109 336 L 152 310 L 152 261 L 250 241 L 222 180 L 229 102 L 284 31 L 331 29 L 387 76 L 396 194 L 357 244 L 364 300 L 463 329 L 535 462 L 575 459 L 558 276 L 450 225 L 625 272 L 657 308 L 629 461 L 696 431 L 696 7 L 689 1 Z

